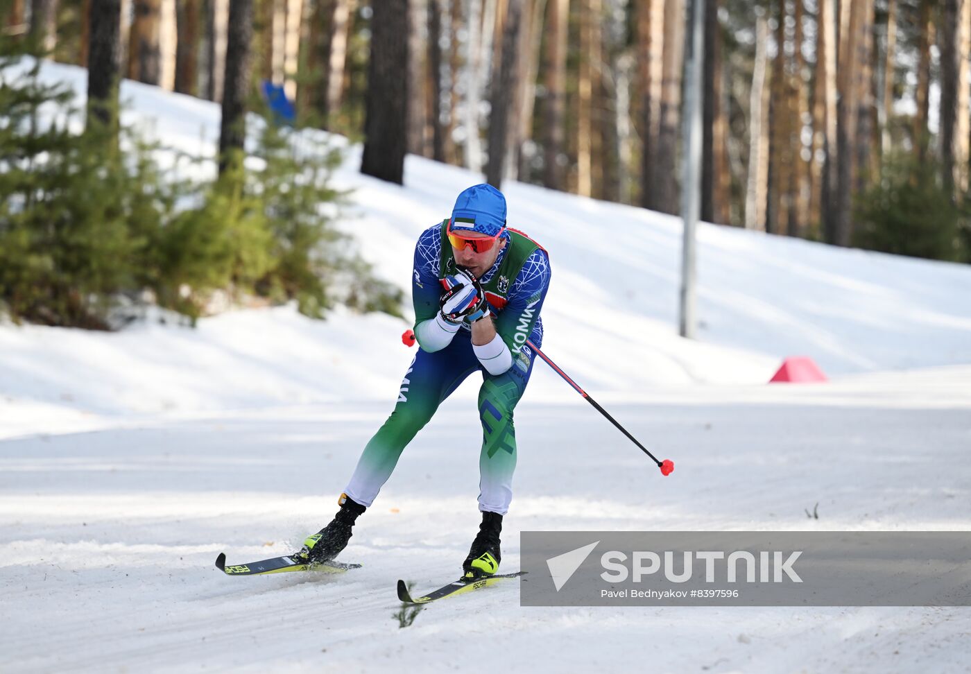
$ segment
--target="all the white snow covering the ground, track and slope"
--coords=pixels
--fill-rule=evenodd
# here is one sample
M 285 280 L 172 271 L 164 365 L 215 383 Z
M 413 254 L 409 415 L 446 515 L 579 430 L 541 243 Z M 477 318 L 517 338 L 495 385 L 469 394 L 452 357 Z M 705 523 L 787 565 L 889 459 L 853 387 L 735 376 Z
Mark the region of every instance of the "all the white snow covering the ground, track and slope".
M 45 78 L 84 91 L 84 71 Z M 126 118 L 200 150 L 218 108 L 125 82 Z M 344 143 L 334 139 L 335 143 Z M 356 172 L 342 226 L 408 287 L 419 231 L 480 179 L 410 156 Z M 971 267 L 702 224 L 697 341 L 677 336 L 678 219 L 505 185 L 548 248 L 544 351 L 677 470 L 544 364 L 517 412 L 503 568 L 520 530 L 968 530 Z M 398 627 L 397 578 L 454 576 L 478 523 L 471 378 L 419 433 L 343 557 L 227 578 L 326 523 L 414 352 L 408 323 L 293 307 L 105 334 L 0 323 L 6 667 L 47 671 L 967 671 L 966 608 L 522 608 L 496 586 Z M 787 355 L 828 383 L 765 382 Z M 819 503 L 819 520 L 805 510 Z

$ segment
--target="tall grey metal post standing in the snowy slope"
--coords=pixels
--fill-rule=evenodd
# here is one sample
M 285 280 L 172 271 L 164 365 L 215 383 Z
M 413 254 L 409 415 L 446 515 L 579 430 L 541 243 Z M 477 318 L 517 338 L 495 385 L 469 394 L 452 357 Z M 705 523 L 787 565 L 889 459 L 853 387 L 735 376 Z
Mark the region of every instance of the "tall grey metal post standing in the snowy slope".
M 704 62 L 706 0 L 689 0 L 690 52 L 685 63 L 684 173 L 681 185 L 681 216 L 685 240 L 681 263 L 681 336 L 694 338 L 695 270 L 694 229 L 698 221 L 701 164 L 701 67 Z

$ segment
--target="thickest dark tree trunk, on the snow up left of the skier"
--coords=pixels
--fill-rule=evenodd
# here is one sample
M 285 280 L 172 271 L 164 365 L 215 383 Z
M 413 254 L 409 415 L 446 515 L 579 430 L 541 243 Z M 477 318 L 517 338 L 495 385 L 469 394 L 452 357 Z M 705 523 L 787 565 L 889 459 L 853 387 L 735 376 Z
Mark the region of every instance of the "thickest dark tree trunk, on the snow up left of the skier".
M 402 184 L 408 132 L 408 0 L 372 5 L 361 173 Z

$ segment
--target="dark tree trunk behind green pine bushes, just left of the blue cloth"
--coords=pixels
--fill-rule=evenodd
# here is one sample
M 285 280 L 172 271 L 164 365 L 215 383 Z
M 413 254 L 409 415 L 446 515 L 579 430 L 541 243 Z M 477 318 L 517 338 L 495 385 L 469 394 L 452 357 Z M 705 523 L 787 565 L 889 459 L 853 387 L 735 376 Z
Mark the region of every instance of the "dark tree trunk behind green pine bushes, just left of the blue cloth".
M 219 174 L 245 153 L 246 102 L 250 93 L 253 0 L 230 0 L 223 76 L 222 121 L 219 124 Z M 242 156 L 239 157 L 242 161 Z

